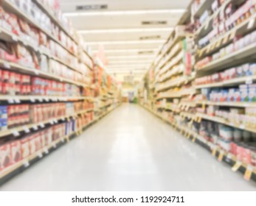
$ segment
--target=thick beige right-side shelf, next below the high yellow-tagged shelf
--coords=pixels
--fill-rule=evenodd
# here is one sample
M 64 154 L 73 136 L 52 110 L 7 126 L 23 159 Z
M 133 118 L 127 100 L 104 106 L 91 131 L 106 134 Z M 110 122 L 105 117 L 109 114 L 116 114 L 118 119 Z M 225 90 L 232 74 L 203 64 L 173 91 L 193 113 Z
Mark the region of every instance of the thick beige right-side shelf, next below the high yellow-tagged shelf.
M 211 63 L 205 65 L 203 68 L 198 69 L 198 73 L 205 71 L 220 71 L 224 68 L 230 68 L 232 65 L 238 65 L 239 63 L 244 63 L 246 60 L 243 58 L 254 57 L 256 54 L 255 51 L 256 43 L 252 43 L 250 46 L 246 46 L 239 51 L 232 52 L 231 54 L 226 54 L 225 57 L 222 57 L 218 60 L 214 60 Z

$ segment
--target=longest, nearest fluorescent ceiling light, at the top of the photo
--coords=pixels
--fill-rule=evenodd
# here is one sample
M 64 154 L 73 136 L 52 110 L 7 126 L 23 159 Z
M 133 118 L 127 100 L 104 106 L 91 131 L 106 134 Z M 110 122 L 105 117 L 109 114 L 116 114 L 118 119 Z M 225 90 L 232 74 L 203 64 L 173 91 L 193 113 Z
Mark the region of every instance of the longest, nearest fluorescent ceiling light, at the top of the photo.
M 184 13 L 186 10 L 173 9 L 173 10 L 126 10 L 126 11 L 103 11 L 103 12 L 75 12 L 64 13 L 65 16 L 94 16 L 94 15 L 143 15 L 143 14 L 172 14 Z

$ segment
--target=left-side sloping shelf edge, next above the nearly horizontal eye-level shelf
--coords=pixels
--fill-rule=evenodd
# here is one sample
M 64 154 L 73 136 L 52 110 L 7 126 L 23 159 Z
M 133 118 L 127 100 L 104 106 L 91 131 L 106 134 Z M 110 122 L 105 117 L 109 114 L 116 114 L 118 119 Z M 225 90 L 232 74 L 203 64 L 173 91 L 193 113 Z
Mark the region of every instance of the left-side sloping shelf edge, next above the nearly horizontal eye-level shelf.
M 38 76 L 38 77 L 45 77 L 45 78 L 48 78 L 48 79 L 55 79 L 55 80 L 58 80 L 60 82 L 67 82 L 67 83 L 70 83 L 72 85 L 82 86 L 84 88 L 88 87 L 88 85 L 86 85 L 86 84 L 83 84 L 83 83 L 80 83 L 80 82 L 75 82 L 75 81 L 72 81 L 70 79 L 62 78 L 62 77 L 59 77 L 55 74 L 50 74 L 48 72 L 41 71 L 41 70 L 38 70 L 36 68 L 29 68 L 27 66 L 20 65 L 18 63 L 12 63 L 12 62 L 8 62 L 8 61 L 0 60 L 0 65 L 1 65 L 2 68 L 6 68 L 8 70 L 18 71 L 18 72 L 22 72 L 24 74 L 30 74 L 30 75 Z

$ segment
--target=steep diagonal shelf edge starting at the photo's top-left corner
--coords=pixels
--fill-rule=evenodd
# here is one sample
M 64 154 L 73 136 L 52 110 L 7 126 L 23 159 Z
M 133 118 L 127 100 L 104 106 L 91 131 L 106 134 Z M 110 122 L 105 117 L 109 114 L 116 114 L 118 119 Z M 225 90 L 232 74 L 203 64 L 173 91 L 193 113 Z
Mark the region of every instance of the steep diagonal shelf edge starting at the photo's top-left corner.
M 15 4 L 13 4 L 12 2 L 7 1 L 7 0 L 2 0 L 1 4 L 4 7 L 4 9 L 10 11 L 11 13 L 15 13 L 16 15 L 26 19 L 26 21 L 29 22 L 30 24 L 32 24 L 33 26 L 37 27 L 38 29 L 41 29 L 41 31 L 44 32 L 48 36 L 48 38 L 54 40 L 56 43 L 58 43 L 60 46 L 62 46 L 63 49 L 68 51 L 69 54 L 72 54 L 73 56 L 75 56 L 75 54 L 72 51 L 67 49 L 66 46 L 63 46 L 63 44 L 60 42 L 60 40 L 58 40 L 52 34 L 50 34 L 48 31 L 46 31 L 46 29 L 39 26 L 35 21 L 33 21 L 33 19 L 29 15 L 27 15 L 22 10 L 20 10 L 18 7 L 16 7 Z

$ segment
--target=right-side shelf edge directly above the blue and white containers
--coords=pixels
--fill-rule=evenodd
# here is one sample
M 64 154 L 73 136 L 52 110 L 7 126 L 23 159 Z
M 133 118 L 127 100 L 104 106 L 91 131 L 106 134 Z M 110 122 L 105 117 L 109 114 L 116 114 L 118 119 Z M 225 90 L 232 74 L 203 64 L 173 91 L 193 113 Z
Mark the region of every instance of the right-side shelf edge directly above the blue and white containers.
M 201 88 L 231 87 L 231 86 L 246 84 L 246 82 L 252 82 L 255 80 L 256 80 L 256 76 L 239 77 L 239 78 L 235 78 L 235 79 L 225 80 L 224 82 L 216 82 L 216 83 L 205 84 L 205 85 L 196 85 L 195 88 L 201 89 Z

